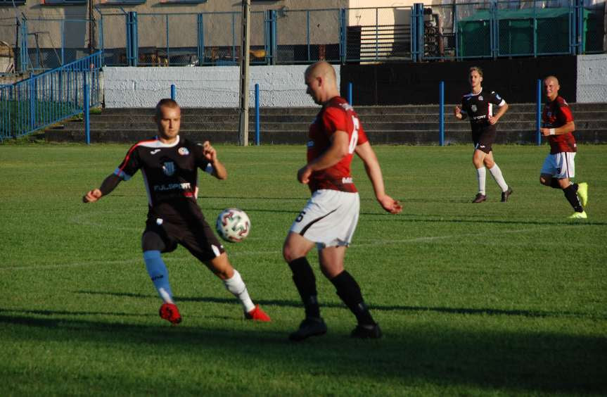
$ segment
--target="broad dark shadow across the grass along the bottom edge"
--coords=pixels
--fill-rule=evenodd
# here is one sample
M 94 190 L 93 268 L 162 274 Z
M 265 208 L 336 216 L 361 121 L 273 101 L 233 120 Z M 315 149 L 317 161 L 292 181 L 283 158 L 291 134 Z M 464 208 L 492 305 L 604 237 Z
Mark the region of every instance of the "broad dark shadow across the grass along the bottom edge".
M 0 329 L 13 330 L 4 334 L 4 342 L 23 343 L 22 340 L 34 339 L 70 341 L 74 346 L 92 343 L 114 346 L 115 351 L 121 353 L 133 351 L 142 344 L 158 344 L 173 365 L 197 356 L 205 357 L 209 365 L 209 360 L 216 359 L 209 352 L 221 351 L 222 357 L 230 360 L 219 361 L 228 366 L 219 370 L 255 364 L 280 368 L 279 372 L 290 386 L 295 379 L 301 379 L 302 374 L 321 374 L 330 377 L 331 382 L 340 382 L 340 377 L 347 375 L 343 380 L 344 391 L 355 387 L 350 383 L 353 377 L 367 388 L 369 384 L 389 382 L 392 387 L 403 388 L 428 385 L 426 390 L 435 393 L 440 393 L 441 388 L 445 388 L 445 392 L 479 392 L 466 389 L 468 387 L 487 392 L 497 389 L 506 394 L 604 394 L 607 391 L 604 376 L 607 342 L 597 336 L 556 331 L 436 329 L 429 324 L 409 324 L 397 334 L 386 334 L 381 341 L 352 340 L 330 329 L 322 338 L 290 344 L 282 329 L 276 328 L 279 324 L 274 323 L 252 324 L 248 329 L 207 329 L 53 318 L 53 312 L 46 310 L 43 313 L 49 317 L 41 318 L 27 315 L 39 313 L 37 310 L 25 312 L 24 315 L 0 312 Z M 32 331 L 32 327 L 41 332 Z M 182 381 L 188 382 L 188 379 Z M 463 389 L 453 389 L 458 386 Z M 279 379 L 268 379 L 268 387 L 269 394 L 283 391 Z M 305 393 L 307 387 L 318 389 L 322 385 L 300 387 Z M 403 393 L 406 390 L 402 389 Z

